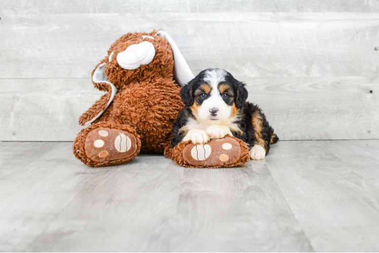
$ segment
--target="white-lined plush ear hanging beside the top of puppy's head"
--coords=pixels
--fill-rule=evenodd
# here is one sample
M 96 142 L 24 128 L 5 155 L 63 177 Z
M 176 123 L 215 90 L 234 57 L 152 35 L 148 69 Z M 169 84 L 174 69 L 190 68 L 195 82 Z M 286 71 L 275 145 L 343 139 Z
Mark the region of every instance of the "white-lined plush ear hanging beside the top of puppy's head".
M 175 41 L 172 37 L 165 31 L 158 31 L 157 36 L 160 36 L 167 40 L 170 44 L 172 52 L 174 53 L 174 79 L 183 87 L 191 81 L 195 75 L 192 73 L 191 69 L 188 67 L 187 62 L 185 61 L 183 55 L 180 53 L 179 48 L 176 46 Z

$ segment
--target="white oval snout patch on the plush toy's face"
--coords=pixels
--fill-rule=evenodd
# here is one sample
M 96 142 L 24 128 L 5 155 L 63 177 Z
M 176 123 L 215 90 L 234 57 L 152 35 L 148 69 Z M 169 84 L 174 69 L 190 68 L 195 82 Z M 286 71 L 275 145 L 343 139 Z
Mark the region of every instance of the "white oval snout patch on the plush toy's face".
M 117 55 L 117 63 L 124 69 L 136 69 L 149 64 L 155 56 L 155 48 L 149 41 L 130 45 L 124 52 Z

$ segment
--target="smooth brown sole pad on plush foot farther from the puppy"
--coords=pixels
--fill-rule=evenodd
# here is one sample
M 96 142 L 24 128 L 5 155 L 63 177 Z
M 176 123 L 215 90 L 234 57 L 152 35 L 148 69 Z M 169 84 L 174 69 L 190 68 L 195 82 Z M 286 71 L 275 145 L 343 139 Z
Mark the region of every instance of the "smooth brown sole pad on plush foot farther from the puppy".
M 93 161 L 125 159 L 136 152 L 137 139 L 124 130 L 97 128 L 88 134 L 84 149 Z

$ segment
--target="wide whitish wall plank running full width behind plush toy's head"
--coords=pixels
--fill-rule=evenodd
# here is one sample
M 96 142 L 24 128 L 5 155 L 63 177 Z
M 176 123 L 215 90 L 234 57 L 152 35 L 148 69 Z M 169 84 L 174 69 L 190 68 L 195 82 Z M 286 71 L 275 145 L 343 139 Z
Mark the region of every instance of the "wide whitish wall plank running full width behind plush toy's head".
M 195 74 L 377 78 L 377 13 L 3 15 L 1 78 L 84 78 L 122 34 L 163 28 Z

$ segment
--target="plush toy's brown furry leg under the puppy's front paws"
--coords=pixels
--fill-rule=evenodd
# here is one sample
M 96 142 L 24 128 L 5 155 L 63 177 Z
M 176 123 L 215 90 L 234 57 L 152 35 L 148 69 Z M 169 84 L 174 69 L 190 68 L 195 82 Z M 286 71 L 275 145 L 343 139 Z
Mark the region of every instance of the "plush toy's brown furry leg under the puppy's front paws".
M 206 144 L 183 141 L 173 149 L 166 149 L 165 155 L 187 167 L 233 167 L 250 159 L 246 143 L 230 135 L 212 139 Z

